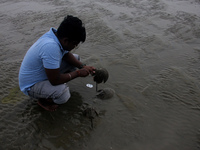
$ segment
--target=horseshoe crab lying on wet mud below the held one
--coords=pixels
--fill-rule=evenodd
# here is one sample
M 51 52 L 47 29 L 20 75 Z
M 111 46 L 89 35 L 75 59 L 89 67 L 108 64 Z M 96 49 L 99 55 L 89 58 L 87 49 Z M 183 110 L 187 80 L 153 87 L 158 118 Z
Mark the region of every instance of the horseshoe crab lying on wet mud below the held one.
M 96 97 L 100 98 L 102 100 L 110 99 L 115 94 L 115 91 L 113 89 L 111 89 L 111 88 L 104 88 L 104 89 L 101 89 L 101 90 L 99 90 L 97 92 L 98 93 L 96 94 Z

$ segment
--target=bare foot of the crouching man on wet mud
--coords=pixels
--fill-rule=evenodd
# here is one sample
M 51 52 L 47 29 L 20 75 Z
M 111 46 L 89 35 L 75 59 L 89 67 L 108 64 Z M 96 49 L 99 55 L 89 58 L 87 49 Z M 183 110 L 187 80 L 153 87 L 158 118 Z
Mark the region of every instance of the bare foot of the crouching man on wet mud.
M 49 99 L 38 99 L 38 105 L 44 108 L 47 111 L 56 111 L 58 104 L 55 104 L 52 100 Z

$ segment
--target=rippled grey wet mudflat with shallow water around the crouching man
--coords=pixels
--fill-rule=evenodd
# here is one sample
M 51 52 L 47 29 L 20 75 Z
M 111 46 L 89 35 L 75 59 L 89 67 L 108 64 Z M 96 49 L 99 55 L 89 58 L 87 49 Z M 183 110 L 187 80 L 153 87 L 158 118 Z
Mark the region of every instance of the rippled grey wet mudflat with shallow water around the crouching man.
M 50 113 L 18 88 L 28 48 L 64 16 L 83 20 L 87 40 L 74 50 L 109 71 L 94 98 L 92 77 L 69 83 L 72 97 Z M 198 150 L 200 148 L 199 0 L 2 0 L 0 149 Z M 94 128 L 82 115 L 100 116 Z

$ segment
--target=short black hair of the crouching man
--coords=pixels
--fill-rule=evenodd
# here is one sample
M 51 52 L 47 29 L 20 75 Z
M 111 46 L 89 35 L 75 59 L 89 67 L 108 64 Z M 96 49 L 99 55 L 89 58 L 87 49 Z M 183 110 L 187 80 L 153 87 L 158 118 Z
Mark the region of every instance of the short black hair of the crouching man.
M 70 41 L 85 42 L 86 31 L 82 21 L 71 15 L 68 15 L 61 22 L 57 30 L 60 38 L 68 38 Z

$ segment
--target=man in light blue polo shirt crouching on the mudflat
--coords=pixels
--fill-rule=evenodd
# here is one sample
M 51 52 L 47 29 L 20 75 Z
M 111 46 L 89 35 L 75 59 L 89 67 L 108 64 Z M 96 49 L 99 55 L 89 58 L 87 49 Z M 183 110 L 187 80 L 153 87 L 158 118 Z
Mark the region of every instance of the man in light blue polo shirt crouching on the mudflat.
M 70 98 L 66 82 L 86 77 L 95 70 L 70 52 L 85 39 L 82 21 L 73 16 L 65 17 L 57 30 L 51 28 L 41 36 L 27 51 L 21 64 L 21 91 L 38 99 L 38 104 L 48 111 L 55 111 L 59 104 L 66 103 Z

